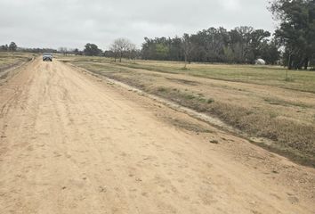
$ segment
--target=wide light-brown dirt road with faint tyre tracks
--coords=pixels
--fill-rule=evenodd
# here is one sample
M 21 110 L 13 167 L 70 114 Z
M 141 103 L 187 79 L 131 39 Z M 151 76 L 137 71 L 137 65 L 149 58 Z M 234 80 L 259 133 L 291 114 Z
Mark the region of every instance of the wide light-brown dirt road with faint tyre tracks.
M 314 169 L 62 62 L 0 113 L 0 213 L 315 213 Z

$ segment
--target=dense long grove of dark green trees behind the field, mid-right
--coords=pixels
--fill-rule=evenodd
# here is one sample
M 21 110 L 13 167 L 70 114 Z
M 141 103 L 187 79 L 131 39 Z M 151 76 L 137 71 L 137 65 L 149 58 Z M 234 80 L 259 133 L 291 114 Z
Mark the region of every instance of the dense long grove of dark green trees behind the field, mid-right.
M 144 38 L 141 56 L 146 60 L 184 62 L 254 63 L 263 58 L 274 64 L 279 51 L 271 33 L 252 27 L 210 28 L 182 37 Z

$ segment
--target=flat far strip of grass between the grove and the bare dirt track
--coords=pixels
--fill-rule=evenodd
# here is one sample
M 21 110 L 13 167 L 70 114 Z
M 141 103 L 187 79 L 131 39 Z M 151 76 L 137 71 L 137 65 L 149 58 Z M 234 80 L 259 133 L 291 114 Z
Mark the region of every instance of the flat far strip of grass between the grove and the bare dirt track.
M 222 79 L 233 82 L 277 86 L 297 91 L 315 93 L 315 72 L 286 70 L 279 66 L 227 65 L 192 63 L 182 70 L 182 62 L 128 61 L 114 63 L 103 57 L 72 57 L 65 59 L 77 62 L 111 63 L 135 70 L 149 70 L 164 73 L 181 73 L 202 78 Z

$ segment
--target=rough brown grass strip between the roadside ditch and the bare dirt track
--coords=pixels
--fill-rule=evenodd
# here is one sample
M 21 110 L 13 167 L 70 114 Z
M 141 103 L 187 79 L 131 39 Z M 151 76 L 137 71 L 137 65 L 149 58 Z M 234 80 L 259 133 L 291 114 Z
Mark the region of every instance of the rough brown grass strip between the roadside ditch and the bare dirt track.
M 151 95 L 158 95 L 166 100 L 205 113 L 206 115 L 215 115 L 230 126 L 246 133 L 246 136 L 255 136 L 255 138 L 252 138 L 253 143 L 267 142 L 267 144 L 261 145 L 268 147 L 272 151 L 285 154 L 291 159 L 305 165 L 315 166 L 314 127 L 280 119 L 277 114 L 272 112 L 265 115 L 263 111 L 253 111 L 229 103 L 222 103 L 219 100 L 206 98 L 203 95 L 196 95 L 189 91 L 182 91 L 166 86 L 152 86 L 144 83 L 140 78 L 128 72 L 128 70 L 121 70 L 112 64 L 110 65 L 112 66 L 111 70 L 106 69 L 107 65 L 82 64 L 82 62 L 75 62 L 74 64 L 93 73 L 122 81 Z M 126 73 L 128 75 L 124 76 Z M 295 104 L 301 105 L 301 103 Z M 262 140 L 264 138 L 269 140 Z

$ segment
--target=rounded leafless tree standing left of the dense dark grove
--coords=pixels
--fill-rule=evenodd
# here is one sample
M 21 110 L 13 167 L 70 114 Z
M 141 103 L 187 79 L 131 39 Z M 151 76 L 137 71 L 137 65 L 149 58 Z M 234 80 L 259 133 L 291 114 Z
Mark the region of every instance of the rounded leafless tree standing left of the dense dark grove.
M 115 62 L 117 57 L 119 57 L 119 62 L 121 62 L 124 53 L 130 53 L 134 49 L 135 45 L 133 45 L 133 43 L 126 38 L 117 38 L 114 43 L 110 45 L 110 51 L 112 51 L 115 55 Z

